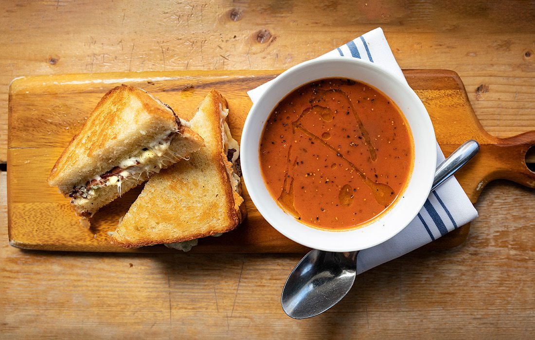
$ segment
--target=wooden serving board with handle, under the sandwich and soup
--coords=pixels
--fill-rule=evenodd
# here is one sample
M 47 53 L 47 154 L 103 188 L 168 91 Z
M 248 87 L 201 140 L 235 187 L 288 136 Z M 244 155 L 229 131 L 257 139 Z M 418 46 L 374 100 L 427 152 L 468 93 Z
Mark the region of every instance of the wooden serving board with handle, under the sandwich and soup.
M 230 127 L 236 140 L 249 112 L 246 91 L 273 79 L 280 71 L 187 71 L 102 73 L 19 78 L 9 92 L 7 205 L 9 238 L 24 249 L 105 252 L 170 252 L 162 245 L 126 250 L 109 242 L 121 216 L 141 191 L 129 191 L 98 211 L 91 228 L 80 226 L 69 200 L 46 182 L 52 165 L 76 134 L 102 95 L 127 83 L 146 89 L 190 119 L 208 90 L 216 88 L 228 99 Z M 535 174 L 525 155 L 535 144 L 535 131 L 510 138 L 485 132 L 468 101 L 461 79 L 444 70 L 406 70 L 409 85 L 427 107 L 437 140 L 446 156 L 469 139 L 480 143 L 479 154 L 456 174 L 473 203 L 494 179 L 509 179 L 535 187 Z M 278 233 L 258 213 L 246 188 L 248 218 L 221 237 L 199 241 L 192 252 L 304 252 L 305 247 Z M 170 207 L 172 208 L 172 207 Z M 428 247 L 461 244 L 470 226 L 462 226 Z

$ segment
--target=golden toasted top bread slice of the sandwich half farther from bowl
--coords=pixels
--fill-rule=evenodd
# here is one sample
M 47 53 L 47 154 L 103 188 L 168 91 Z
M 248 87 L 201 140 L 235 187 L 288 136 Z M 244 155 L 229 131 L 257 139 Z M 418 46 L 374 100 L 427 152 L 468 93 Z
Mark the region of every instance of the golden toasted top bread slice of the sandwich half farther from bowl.
M 143 135 L 138 128 L 147 131 Z M 72 182 L 108 171 L 104 167 L 113 158 L 126 156 L 141 141 L 156 140 L 177 128 L 172 111 L 158 99 L 125 84 L 115 87 L 98 102 L 80 133 L 59 156 L 47 181 L 68 194 L 65 190 L 71 189 Z

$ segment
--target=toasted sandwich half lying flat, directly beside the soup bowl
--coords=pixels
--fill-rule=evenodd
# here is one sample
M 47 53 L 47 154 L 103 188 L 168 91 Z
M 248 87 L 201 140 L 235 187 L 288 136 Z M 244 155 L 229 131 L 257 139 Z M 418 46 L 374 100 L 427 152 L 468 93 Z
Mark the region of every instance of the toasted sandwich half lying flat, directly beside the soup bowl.
M 190 120 L 204 147 L 189 161 L 155 174 L 111 237 L 126 248 L 175 243 L 225 233 L 246 215 L 241 197 L 238 142 L 226 100 L 211 90 Z

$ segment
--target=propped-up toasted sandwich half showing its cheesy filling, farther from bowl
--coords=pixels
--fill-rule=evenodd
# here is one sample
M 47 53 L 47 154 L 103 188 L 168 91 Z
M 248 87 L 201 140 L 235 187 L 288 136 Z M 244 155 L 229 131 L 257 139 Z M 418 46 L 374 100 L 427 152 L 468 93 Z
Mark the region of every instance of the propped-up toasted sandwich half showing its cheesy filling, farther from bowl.
M 59 156 L 48 183 L 71 198 L 78 215 L 88 217 L 200 149 L 203 140 L 188 125 L 144 90 L 113 88 Z

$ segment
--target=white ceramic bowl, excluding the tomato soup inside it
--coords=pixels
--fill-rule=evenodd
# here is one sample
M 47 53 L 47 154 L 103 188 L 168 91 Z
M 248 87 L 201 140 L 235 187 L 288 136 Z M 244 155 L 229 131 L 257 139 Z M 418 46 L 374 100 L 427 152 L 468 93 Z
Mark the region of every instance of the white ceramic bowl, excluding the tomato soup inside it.
M 284 212 L 265 186 L 259 165 L 264 125 L 274 107 L 292 92 L 323 78 L 349 78 L 370 84 L 391 98 L 403 112 L 414 139 L 414 167 L 401 198 L 361 228 L 329 231 L 309 227 Z M 279 75 L 249 111 L 241 137 L 243 179 L 253 203 L 281 234 L 310 248 L 345 252 L 385 242 L 405 228 L 425 203 L 437 165 L 437 145 L 431 119 L 414 91 L 385 69 L 356 58 L 305 61 Z

